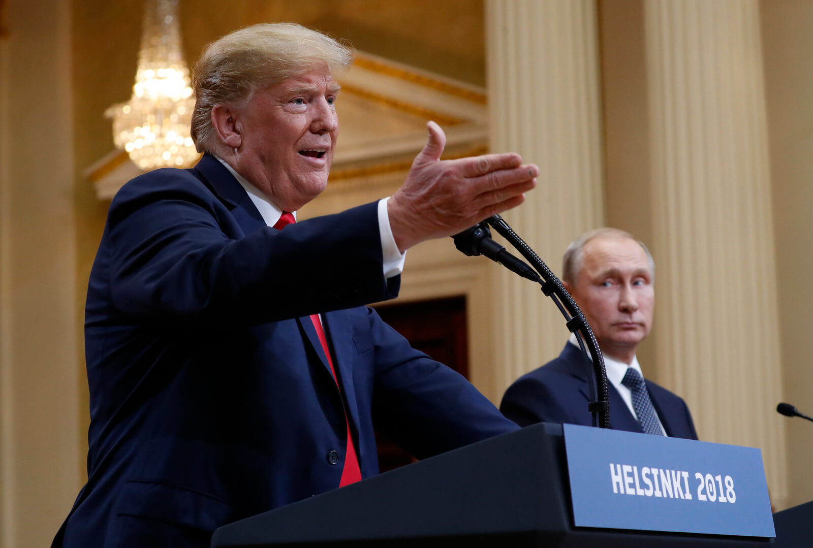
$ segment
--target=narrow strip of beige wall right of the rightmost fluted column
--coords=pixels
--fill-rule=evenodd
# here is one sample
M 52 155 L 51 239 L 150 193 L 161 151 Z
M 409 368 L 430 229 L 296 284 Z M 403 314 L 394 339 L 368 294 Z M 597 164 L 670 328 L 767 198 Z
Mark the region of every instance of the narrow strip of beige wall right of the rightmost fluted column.
M 813 2 L 763 0 L 782 400 L 813 415 Z M 813 499 L 813 424 L 787 421 L 789 503 Z

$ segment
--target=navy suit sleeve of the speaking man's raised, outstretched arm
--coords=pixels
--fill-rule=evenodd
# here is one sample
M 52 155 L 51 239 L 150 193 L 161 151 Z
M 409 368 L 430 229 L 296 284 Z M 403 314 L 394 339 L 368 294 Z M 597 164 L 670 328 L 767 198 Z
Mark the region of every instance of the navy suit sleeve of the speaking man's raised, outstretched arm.
M 148 175 L 125 187 L 108 215 L 110 298 L 126 315 L 216 327 L 394 296 L 398 281 L 381 270 L 376 203 L 244 235 L 192 175 Z

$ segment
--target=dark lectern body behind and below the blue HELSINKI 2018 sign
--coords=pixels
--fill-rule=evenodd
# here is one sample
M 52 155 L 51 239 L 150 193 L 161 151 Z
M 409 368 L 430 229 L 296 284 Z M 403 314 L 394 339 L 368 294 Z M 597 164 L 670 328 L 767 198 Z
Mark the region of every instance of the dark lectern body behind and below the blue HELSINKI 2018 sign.
M 562 427 L 537 424 L 215 531 L 237 546 L 767 546 L 772 539 L 575 528 Z

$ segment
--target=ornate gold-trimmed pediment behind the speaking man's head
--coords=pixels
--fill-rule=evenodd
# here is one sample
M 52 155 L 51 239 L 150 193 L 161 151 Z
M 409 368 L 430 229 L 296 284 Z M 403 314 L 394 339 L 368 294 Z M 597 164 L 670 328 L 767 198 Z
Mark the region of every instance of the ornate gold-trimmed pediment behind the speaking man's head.
M 349 180 L 376 185 L 383 174 L 406 171 L 426 142 L 427 120 L 446 131 L 445 157 L 478 154 L 488 146 L 482 88 L 362 52 L 340 81 L 341 132 L 330 177 L 334 189 Z M 100 199 L 111 199 L 139 174 L 120 150 L 85 170 Z

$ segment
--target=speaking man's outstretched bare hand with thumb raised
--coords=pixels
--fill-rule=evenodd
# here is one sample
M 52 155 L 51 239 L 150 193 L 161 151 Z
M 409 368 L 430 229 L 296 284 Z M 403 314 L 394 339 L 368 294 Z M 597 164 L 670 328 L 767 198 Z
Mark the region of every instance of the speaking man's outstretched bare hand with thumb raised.
M 389 226 L 398 249 L 452 236 L 491 215 L 517 207 L 537 185 L 539 167 L 522 164 L 520 154 L 442 160 L 446 134 L 434 122 L 412 162 L 406 181 L 387 202 Z

